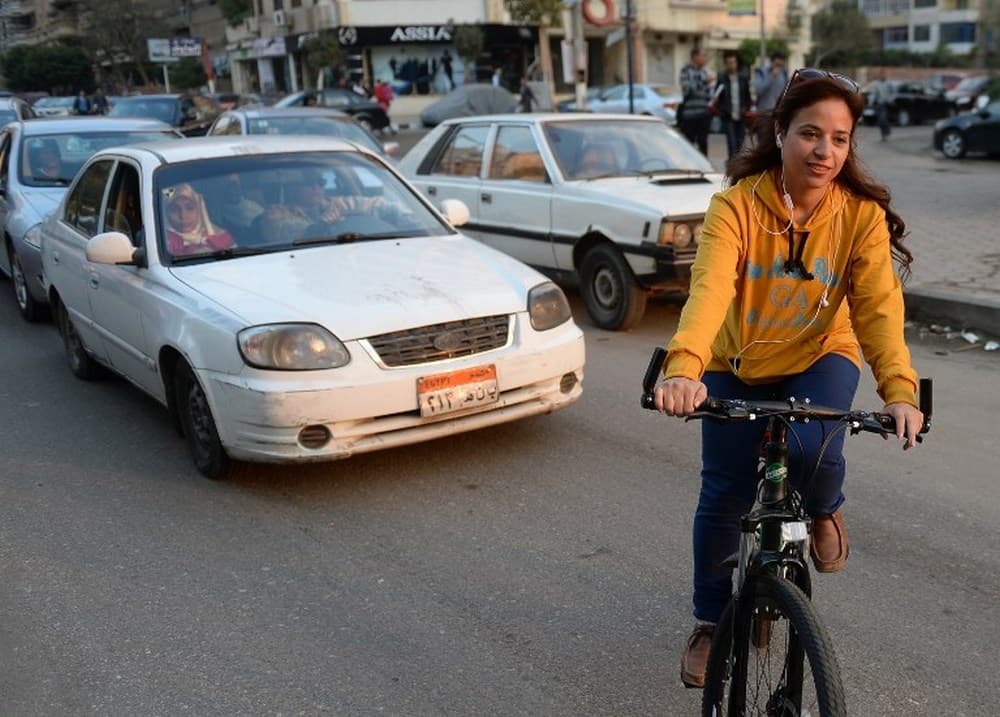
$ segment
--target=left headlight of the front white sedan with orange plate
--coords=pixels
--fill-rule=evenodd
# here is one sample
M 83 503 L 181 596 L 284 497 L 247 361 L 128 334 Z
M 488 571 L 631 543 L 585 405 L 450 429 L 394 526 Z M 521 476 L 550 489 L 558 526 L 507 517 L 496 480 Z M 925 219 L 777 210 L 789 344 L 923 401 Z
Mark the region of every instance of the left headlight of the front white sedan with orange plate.
M 243 360 L 256 368 L 315 371 L 347 365 L 351 354 L 340 339 L 316 324 L 268 324 L 236 336 Z

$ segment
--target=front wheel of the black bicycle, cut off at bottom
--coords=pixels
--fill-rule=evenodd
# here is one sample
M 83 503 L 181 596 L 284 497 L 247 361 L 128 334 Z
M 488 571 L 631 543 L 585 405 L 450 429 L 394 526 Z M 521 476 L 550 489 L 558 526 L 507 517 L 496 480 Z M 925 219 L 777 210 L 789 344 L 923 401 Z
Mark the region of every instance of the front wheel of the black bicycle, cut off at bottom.
M 837 657 L 805 593 L 772 575 L 744 590 L 715 628 L 702 715 L 846 717 Z

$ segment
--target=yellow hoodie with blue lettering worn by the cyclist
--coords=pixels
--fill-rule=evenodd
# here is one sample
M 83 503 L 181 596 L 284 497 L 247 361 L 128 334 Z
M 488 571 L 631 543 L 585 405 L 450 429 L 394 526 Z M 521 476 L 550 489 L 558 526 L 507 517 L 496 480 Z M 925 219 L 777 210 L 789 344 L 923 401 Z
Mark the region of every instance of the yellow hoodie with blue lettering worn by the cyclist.
M 771 172 L 712 198 L 664 376 L 729 370 L 766 383 L 827 354 L 860 368 L 863 351 L 882 399 L 916 405 L 884 210 L 833 183 L 806 225 L 793 227 L 791 251 L 787 226 Z M 811 280 L 785 271 L 797 255 Z

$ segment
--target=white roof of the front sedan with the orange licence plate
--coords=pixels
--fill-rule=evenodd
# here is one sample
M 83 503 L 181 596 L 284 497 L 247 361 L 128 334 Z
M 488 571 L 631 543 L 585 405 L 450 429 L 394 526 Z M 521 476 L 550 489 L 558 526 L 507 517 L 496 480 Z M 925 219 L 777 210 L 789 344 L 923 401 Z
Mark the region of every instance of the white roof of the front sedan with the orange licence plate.
M 34 122 L 35 120 L 32 120 Z M 101 150 L 97 154 L 101 154 Z M 216 159 L 219 157 L 241 157 L 251 154 L 308 154 L 316 151 L 357 152 L 362 153 L 352 142 L 325 137 L 321 135 L 309 137 L 308 142 L 302 141 L 301 135 L 215 135 L 212 137 L 188 137 L 182 142 L 141 142 L 127 147 L 115 148 L 116 154 L 152 153 L 159 157 L 162 163 L 175 164 L 190 162 L 197 159 Z M 374 153 L 365 150 L 364 154 Z M 96 156 L 96 155 L 95 155 Z

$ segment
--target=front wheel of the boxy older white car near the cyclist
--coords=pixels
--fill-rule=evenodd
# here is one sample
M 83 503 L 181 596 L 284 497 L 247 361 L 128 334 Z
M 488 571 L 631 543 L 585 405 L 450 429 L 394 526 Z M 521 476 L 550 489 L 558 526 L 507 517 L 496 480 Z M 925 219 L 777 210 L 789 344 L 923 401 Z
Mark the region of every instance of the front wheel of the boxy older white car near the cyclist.
M 608 331 L 627 331 L 646 311 L 646 292 L 625 257 L 610 244 L 598 244 L 580 266 L 581 293 L 594 323 Z

